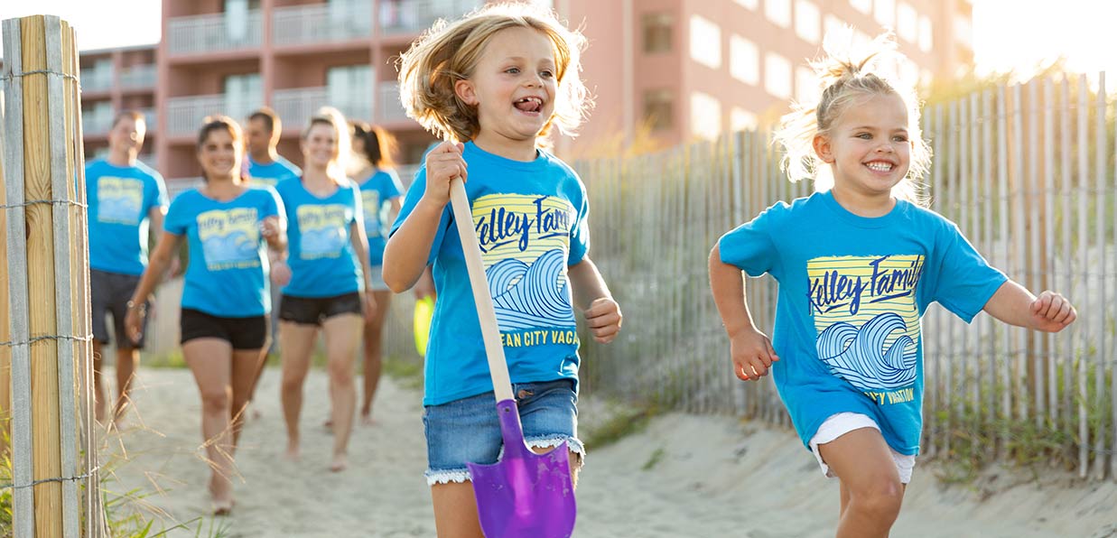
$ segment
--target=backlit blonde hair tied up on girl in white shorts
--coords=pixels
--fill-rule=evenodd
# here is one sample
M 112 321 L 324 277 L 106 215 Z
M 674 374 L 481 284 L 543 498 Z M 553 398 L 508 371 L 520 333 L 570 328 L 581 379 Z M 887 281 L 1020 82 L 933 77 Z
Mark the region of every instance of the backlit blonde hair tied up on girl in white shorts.
M 819 77 L 821 94 L 817 100 L 794 103 L 792 112 L 781 118 L 774 138 L 784 151 L 781 167 L 791 181 L 810 177 L 814 180 L 815 190 L 831 189 L 833 174 L 814 153 L 814 137 L 829 134 L 842 113 L 866 97 L 897 95 L 907 107 L 911 158 L 907 175 L 892 188 L 892 195 L 926 205 L 919 180 L 930 166 L 930 147 L 919 129 L 920 102 L 910 86 L 880 73 L 882 60 L 903 58 L 896 51 L 896 39 L 891 32 L 886 32 L 861 48 L 851 44 L 850 28 L 827 35 L 823 44 L 827 57 L 810 64 Z

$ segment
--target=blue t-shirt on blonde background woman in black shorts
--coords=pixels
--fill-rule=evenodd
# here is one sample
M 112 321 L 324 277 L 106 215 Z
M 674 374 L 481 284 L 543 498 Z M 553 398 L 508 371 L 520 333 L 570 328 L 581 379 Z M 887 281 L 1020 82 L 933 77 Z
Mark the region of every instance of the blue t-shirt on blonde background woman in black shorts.
M 284 295 L 321 298 L 361 289 L 361 263 L 353 252 L 352 225 L 364 225 L 361 194 L 346 180 L 333 194 L 318 198 L 294 177 L 276 185 L 287 211 L 287 266 Z

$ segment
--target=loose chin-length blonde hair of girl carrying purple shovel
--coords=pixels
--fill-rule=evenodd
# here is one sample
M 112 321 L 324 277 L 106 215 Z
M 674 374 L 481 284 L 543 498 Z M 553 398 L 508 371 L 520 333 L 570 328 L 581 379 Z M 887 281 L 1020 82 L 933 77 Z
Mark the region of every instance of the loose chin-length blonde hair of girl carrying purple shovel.
M 540 31 L 554 48 L 555 107 L 536 138 L 546 137 L 552 125 L 573 136 L 592 105 L 581 78 L 585 38 L 567 29 L 553 11 L 528 3 L 490 4 L 455 22 L 439 20 L 420 36 L 398 66 L 400 102 L 408 116 L 440 138 L 466 142 L 476 137 L 480 131 L 477 108 L 458 98 L 454 85 L 474 75 L 489 39 L 506 28 Z

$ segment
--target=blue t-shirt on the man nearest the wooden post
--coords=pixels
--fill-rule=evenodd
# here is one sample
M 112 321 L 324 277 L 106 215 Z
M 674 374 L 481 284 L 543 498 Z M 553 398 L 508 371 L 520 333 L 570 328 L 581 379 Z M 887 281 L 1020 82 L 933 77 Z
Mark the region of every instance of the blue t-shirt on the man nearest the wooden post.
M 142 275 L 147 266 L 147 227 L 153 208 L 166 208 L 163 176 L 136 161 L 115 166 L 98 158 L 85 167 L 89 204 L 89 267 Z

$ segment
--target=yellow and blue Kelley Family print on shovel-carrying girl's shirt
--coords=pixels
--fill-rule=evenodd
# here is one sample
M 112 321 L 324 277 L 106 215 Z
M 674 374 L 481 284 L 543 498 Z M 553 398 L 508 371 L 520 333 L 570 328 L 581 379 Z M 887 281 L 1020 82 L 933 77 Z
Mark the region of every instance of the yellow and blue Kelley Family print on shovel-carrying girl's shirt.
M 504 345 L 576 344 L 566 280 L 571 203 L 488 194 L 474 201 L 472 213 Z

